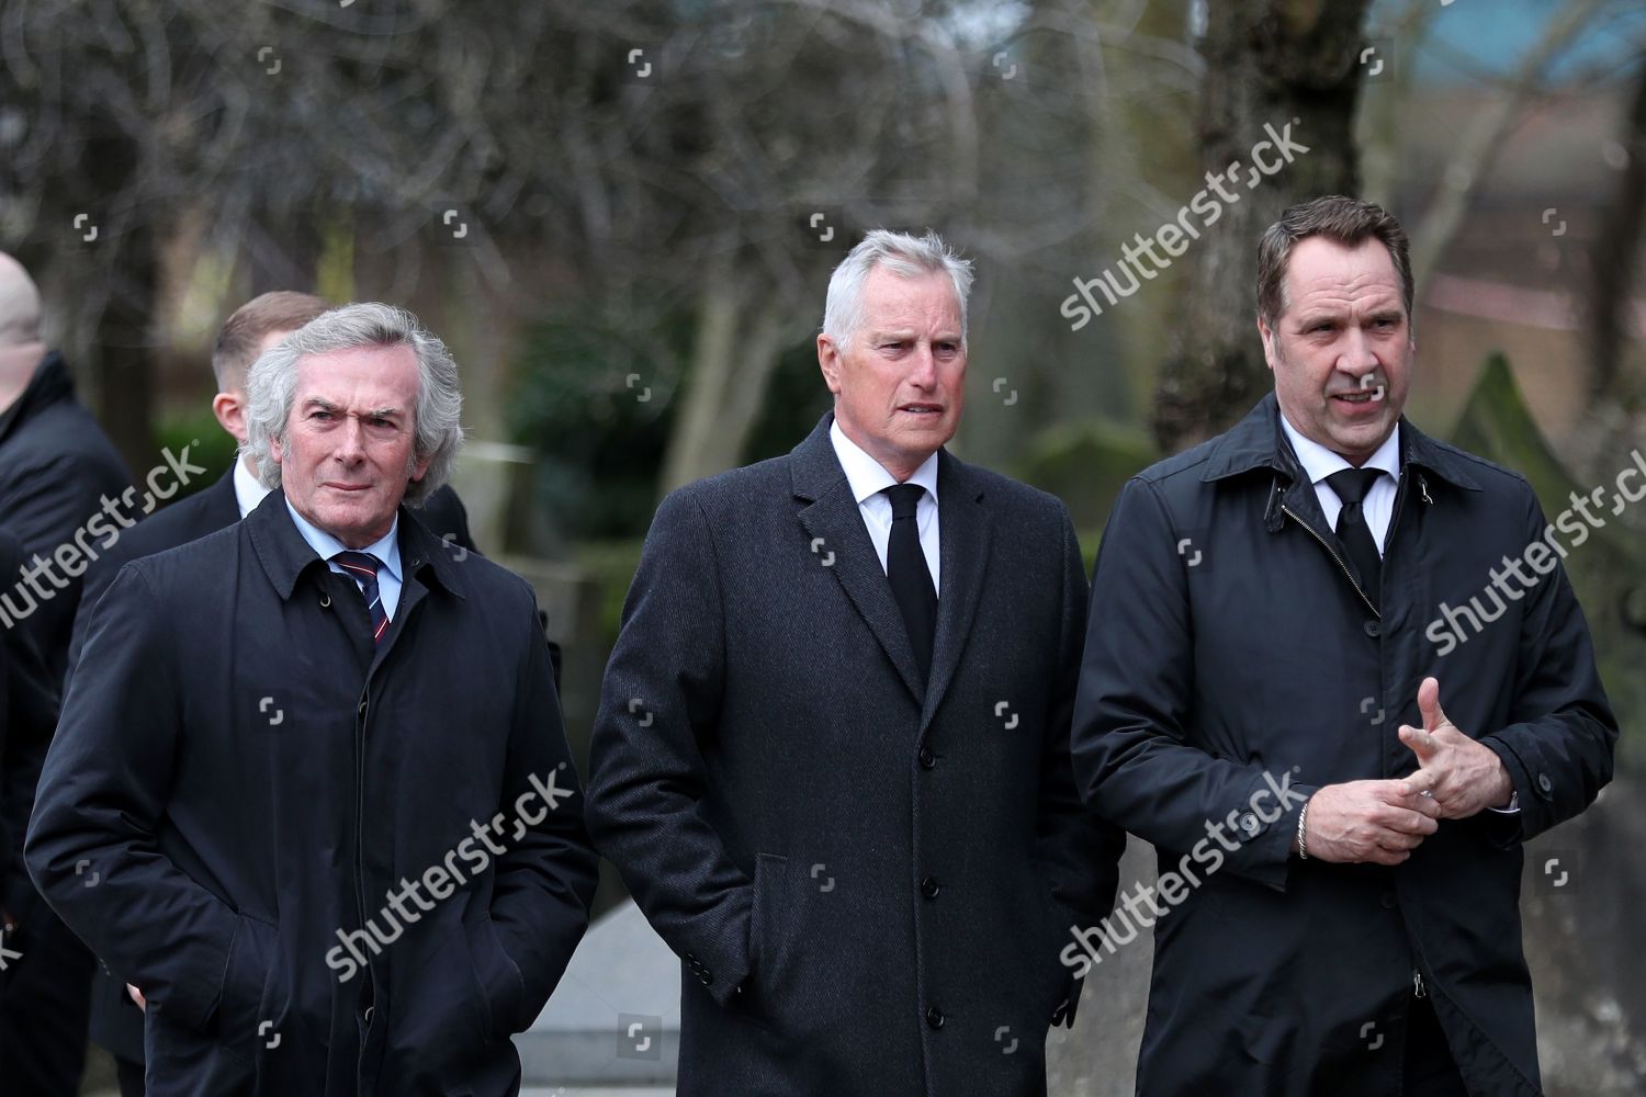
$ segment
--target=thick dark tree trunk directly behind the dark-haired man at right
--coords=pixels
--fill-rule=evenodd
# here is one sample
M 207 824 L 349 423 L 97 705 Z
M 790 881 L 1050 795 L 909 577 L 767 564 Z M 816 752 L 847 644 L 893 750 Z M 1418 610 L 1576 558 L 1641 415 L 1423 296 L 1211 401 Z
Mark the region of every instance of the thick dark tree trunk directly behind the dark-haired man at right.
M 1353 118 L 1368 71 L 1360 62 L 1368 2 L 1207 5 L 1200 163 L 1213 176 L 1236 161 L 1239 169 L 1225 183 L 1233 202 L 1208 191 L 1221 215 L 1190 242 L 1197 263 L 1177 312 L 1177 347 L 1155 395 L 1154 434 L 1167 452 L 1228 428 L 1267 388 L 1254 304 L 1262 230 L 1295 202 L 1356 189 Z M 1251 150 L 1266 138 L 1266 125 L 1276 132 L 1290 125 L 1292 140 L 1309 151 L 1249 186 Z

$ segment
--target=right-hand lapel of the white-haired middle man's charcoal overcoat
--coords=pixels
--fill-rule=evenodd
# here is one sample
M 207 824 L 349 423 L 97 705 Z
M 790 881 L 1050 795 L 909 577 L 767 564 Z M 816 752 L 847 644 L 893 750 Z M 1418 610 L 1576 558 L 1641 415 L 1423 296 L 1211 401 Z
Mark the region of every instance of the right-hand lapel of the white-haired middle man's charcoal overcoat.
M 932 684 L 920 712 L 925 735 L 943 702 L 960 656 L 971 636 L 971 622 L 983 595 L 989 562 L 991 523 L 983 505 L 983 485 L 963 462 L 940 451 L 937 469 L 938 556 L 943 561 L 937 599 L 937 643 L 932 650 Z M 861 525 L 861 523 L 859 523 Z M 890 589 L 890 587 L 887 587 Z

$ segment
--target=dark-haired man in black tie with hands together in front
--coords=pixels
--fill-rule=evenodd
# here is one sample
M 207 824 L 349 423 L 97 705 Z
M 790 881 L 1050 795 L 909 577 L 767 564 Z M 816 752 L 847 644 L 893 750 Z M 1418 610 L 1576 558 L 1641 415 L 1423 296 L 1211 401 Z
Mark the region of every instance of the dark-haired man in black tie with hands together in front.
M 1521 845 L 1595 799 L 1618 735 L 1583 613 L 1551 551 L 1437 641 L 1549 526 L 1523 477 L 1401 416 L 1389 214 L 1289 209 L 1258 332 L 1274 393 L 1123 488 L 1093 577 L 1075 770 L 1162 895 L 1179 877 L 1137 1092 L 1532 1097 Z

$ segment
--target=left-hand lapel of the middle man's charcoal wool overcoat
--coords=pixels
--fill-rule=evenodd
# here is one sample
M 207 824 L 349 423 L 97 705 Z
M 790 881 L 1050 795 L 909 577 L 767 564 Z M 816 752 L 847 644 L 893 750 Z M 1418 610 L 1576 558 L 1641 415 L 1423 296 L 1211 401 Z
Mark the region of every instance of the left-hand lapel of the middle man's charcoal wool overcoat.
M 839 467 L 839 457 L 835 456 L 835 446 L 828 437 L 828 428 L 833 421 L 833 414 L 825 414 L 807 441 L 800 442 L 790 454 L 795 498 L 810 503 L 800 510 L 807 546 L 816 544 L 818 564 L 835 572 L 846 597 L 851 599 L 858 613 L 869 625 L 869 632 L 874 633 L 881 648 L 886 650 L 886 656 L 897 668 L 897 676 L 904 679 L 904 686 L 909 687 L 914 699 L 920 701 L 920 671 L 915 666 L 914 648 L 909 645 L 902 612 L 892 599 L 892 587 L 886 582 L 881 558 L 869 539 L 867 526 L 863 525 L 863 511 L 851 495 L 851 484 L 846 480 L 846 472 Z M 943 567 L 948 567 L 948 558 L 943 559 Z M 940 651 L 942 635 L 943 604 L 940 599 Z M 935 671 L 933 664 L 933 674 Z

